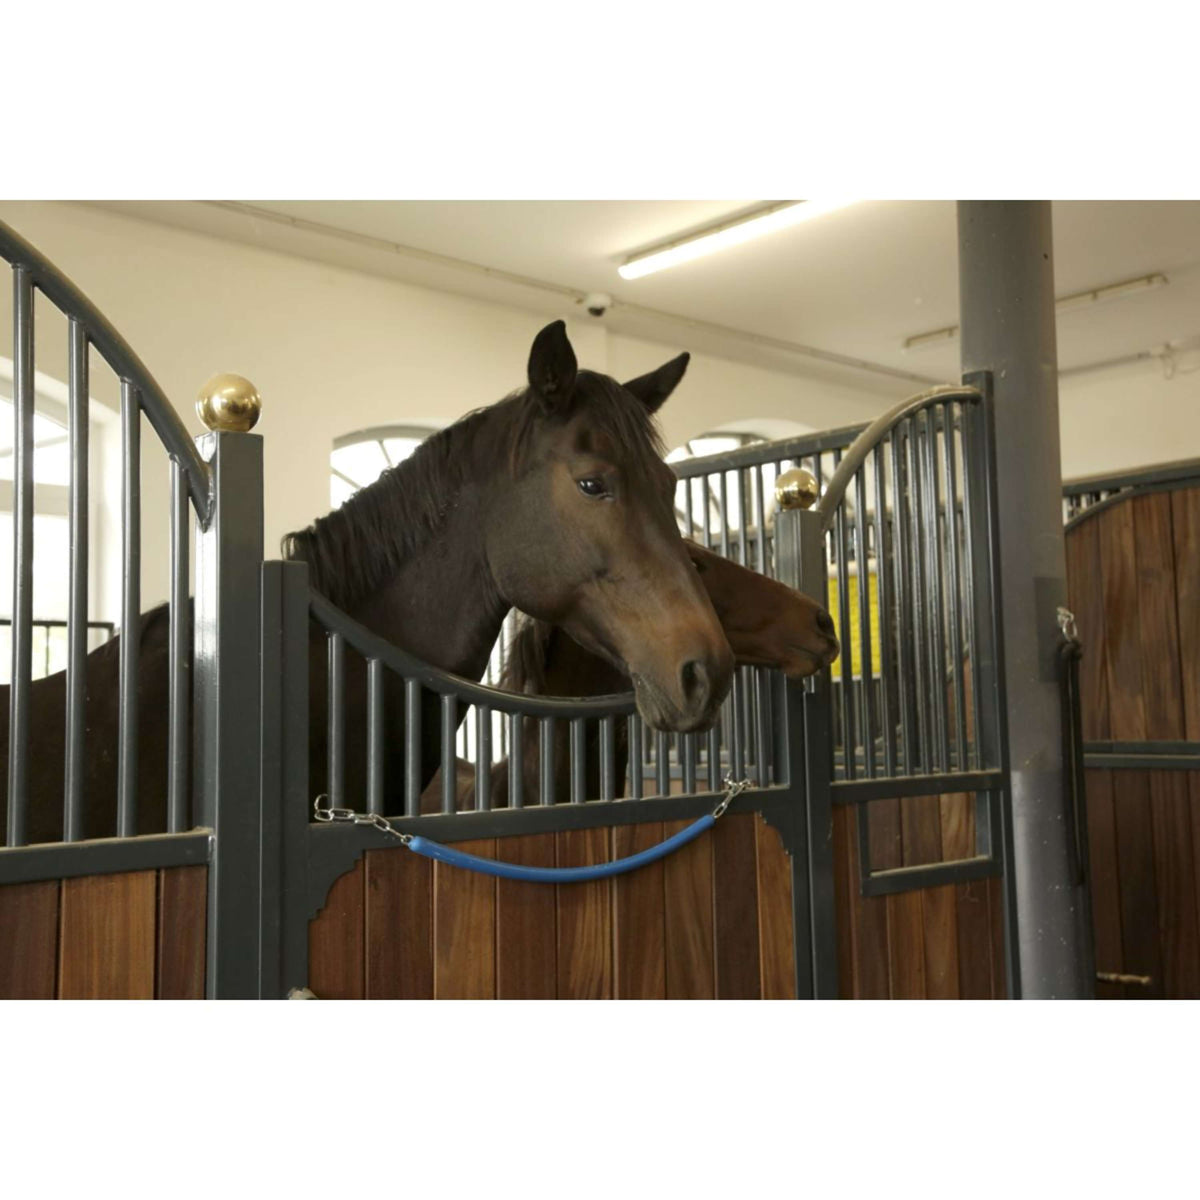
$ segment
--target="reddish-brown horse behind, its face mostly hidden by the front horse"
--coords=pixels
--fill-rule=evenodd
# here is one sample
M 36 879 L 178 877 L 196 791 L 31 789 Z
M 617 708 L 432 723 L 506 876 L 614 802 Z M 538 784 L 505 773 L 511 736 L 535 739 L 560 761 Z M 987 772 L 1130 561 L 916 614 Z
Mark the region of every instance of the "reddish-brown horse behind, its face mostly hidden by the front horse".
M 779 667 L 790 679 L 803 679 L 823 670 L 838 656 L 838 638 L 829 613 L 816 601 L 776 580 L 732 563 L 694 541 L 685 541 L 704 590 L 713 602 L 738 666 Z M 509 659 L 499 686 L 506 691 L 539 696 L 584 697 L 628 692 L 626 674 L 604 659 L 583 649 L 563 630 L 532 618 L 517 626 L 509 646 Z M 523 722 L 524 796 L 538 796 L 539 737 L 536 721 Z M 595 731 L 589 727 L 587 794 L 599 794 L 599 757 Z M 569 731 L 564 721 L 554 727 L 554 797 L 563 803 L 570 793 Z M 624 722 L 618 724 L 614 778 L 624 776 L 628 746 Z M 440 772 L 421 796 L 421 810 L 437 812 L 442 805 Z M 492 769 L 491 803 L 508 803 L 508 762 Z M 475 792 L 475 769 L 458 763 L 457 808 L 470 809 Z

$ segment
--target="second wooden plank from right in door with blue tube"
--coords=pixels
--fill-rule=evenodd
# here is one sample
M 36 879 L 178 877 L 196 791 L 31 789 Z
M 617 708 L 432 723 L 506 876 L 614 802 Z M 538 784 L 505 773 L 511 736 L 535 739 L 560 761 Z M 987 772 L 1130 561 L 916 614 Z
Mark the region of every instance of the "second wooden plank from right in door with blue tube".
M 758 1000 L 762 995 L 754 822 L 752 814 L 737 812 L 713 827 L 718 1000 Z

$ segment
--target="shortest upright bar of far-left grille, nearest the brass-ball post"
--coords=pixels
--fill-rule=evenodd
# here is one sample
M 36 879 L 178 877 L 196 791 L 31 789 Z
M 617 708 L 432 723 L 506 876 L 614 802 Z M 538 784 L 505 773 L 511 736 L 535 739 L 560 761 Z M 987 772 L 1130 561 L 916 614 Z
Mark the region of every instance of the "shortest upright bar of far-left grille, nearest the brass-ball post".
M 190 512 L 187 480 L 175 458 L 170 463 L 170 613 L 168 640 L 170 690 L 167 749 L 167 829 L 180 833 L 187 828 L 188 757 L 192 738 L 192 606 L 188 592 Z

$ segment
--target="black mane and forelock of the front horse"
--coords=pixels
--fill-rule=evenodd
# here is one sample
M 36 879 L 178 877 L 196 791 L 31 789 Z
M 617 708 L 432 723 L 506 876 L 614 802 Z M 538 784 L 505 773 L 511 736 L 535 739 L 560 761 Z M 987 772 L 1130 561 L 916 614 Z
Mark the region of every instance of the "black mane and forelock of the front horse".
M 308 564 L 310 582 L 340 608 L 361 602 L 419 553 L 445 523 L 460 491 L 485 478 L 497 462 L 520 475 L 539 421 L 566 421 L 587 408 L 600 432 L 646 472 L 664 446 L 653 418 L 614 379 L 581 371 L 564 412 L 546 413 L 526 389 L 479 408 L 426 438 L 340 509 L 307 529 L 286 534 L 283 557 Z

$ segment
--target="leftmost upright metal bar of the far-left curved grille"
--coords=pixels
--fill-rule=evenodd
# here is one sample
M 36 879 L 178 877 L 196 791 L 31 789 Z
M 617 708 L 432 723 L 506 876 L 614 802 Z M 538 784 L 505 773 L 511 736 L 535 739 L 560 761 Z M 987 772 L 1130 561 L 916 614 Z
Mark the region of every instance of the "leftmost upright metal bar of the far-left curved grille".
M 6 842 L 22 846 L 29 804 L 29 728 L 32 691 L 34 602 L 34 282 L 12 272 L 13 308 L 13 532 L 12 673 L 8 709 L 8 822 Z

